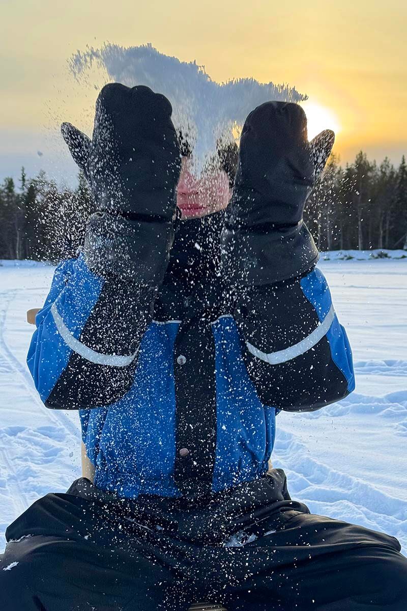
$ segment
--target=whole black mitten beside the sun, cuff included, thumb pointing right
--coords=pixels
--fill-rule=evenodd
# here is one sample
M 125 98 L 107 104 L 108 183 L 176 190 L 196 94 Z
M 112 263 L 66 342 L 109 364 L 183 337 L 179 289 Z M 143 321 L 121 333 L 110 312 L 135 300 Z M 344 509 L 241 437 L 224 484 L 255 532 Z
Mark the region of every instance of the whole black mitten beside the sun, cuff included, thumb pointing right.
M 223 268 L 232 282 L 270 284 L 315 265 L 303 210 L 333 143 L 330 130 L 308 142 L 298 104 L 267 102 L 248 115 L 222 232 Z

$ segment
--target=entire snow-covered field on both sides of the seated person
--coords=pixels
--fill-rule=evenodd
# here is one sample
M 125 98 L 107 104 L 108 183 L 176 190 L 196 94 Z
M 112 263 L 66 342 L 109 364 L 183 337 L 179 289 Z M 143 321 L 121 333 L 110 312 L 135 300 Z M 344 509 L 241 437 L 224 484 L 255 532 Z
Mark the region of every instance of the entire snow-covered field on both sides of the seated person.
M 279 414 L 273 464 L 312 511 L 384 530 L 407 554 L 407 259 L 320 268 L 353 346 L 356 391 L 315 414 Z M 46 409 L 25 364 L 26 310 L 42 305 L 52 272 L 0 266 L 1 537 L 35 499 L 80 475 L 77 414 Z

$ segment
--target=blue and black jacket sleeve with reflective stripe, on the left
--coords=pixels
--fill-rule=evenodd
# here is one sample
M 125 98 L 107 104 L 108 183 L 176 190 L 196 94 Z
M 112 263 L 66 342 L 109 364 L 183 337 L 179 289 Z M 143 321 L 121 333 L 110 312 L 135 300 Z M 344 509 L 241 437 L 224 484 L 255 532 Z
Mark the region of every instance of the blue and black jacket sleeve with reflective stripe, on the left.
M 27 364 L 46 407 L 94 408 L 132 384 L 155 290 L 94 273 L 81 255 L 56 269 Z

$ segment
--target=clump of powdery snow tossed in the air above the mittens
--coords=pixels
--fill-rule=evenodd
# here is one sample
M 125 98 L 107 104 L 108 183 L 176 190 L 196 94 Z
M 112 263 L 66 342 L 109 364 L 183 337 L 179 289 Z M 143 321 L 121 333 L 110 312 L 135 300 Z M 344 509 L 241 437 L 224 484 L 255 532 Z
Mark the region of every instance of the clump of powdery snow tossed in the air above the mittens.
M 260 83 L 253 78 L 218 83 L 205 68 L 159 53 L 151 45 L 124 48 L 106 43 L 100 49 L 77 51 L 70 60 L 76 78 L 86 78 L 94 65 L 103 68 L 110 81 L 128 87 L 146 85 L 170 100 L 173 122 L 193 150 L 199 173 L 217 144 L 238 136 L 248 113 L 268 100 L 300 102 L 306 96 L 287 84 Z M 106 84 L 102 82 L 101 87 Z

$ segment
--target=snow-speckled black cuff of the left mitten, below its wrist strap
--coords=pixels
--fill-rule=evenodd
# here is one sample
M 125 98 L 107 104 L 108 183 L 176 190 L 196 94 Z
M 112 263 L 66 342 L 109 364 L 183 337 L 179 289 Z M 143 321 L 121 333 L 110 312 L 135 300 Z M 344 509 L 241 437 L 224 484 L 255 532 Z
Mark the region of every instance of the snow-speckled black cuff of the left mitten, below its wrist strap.
M 170 221 L 138 221 L 96 212 L 88 219 L 84 256 L 96 274 L 156 287 L 164 279 L 173 241 Z

